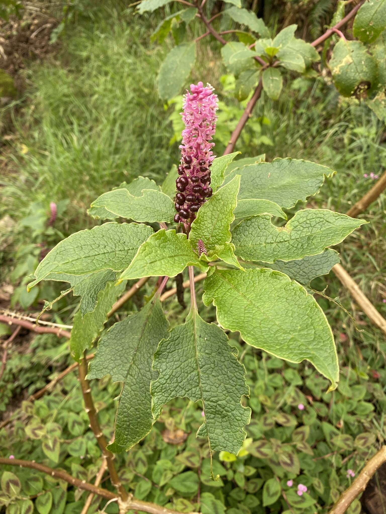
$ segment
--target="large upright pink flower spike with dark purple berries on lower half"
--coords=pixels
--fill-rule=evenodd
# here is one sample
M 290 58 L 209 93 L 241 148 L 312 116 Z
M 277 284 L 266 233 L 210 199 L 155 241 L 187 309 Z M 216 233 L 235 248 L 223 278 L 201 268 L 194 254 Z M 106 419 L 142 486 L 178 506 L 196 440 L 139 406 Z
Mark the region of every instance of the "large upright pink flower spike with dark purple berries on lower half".
M 210 185 L 210 167 L 215 158 L 212 148 L 212 136 L 216 131 L 217 95 L 213 87 L 202 82 L 191 84 L 190 91 L 184 96 L 182 121 L 180 175 L 176 180 L 176 211 L 174 221 L 189 224 L 206 198 L 212 196 Z

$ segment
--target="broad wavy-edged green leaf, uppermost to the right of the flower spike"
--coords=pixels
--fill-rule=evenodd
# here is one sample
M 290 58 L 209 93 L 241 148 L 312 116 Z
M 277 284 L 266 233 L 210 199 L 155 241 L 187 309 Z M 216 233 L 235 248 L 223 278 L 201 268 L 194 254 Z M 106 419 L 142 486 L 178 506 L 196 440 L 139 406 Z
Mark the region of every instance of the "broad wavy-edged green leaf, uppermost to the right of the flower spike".
M 290 209 L 298 200 L 306 201 L 308 196 L 318 193 L 325 177 L 334 174 L 330 168 L 314 162 L 274 159 L 234 170 L 225 177 L 225 183 L 241 175 L 239 200 L 261 198 Z

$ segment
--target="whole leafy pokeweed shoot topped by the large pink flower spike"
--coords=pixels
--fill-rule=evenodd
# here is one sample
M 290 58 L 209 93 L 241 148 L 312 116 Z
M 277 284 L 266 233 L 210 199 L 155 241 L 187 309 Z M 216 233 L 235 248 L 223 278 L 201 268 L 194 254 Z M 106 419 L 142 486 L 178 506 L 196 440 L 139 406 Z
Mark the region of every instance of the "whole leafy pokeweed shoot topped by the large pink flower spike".
M 272 223 L 286 220 L 284 209 L 317 193 L 334 172 L 296 159 L 244 164 L 235 160 L 238 152 L 215 158 L 216 108 L 210 85 L 191 85 L 179 167 L 162 187 L 138 177 L 102 194 L 91 216 L 132 222 L 110 221 L 69 236 L 42 260 L 29 284 L 66 281 L 81 297 L 70 340 L 73 357 L 81 361 L 127 281 L 160 277 L 144 308 L 101 337 L 90 364 L 87 378 L 110 374 L 123 384 L 112 452 L 141 440 L 175 397 L 202 403 L 197 435 L 207 437 L 210 455 L 239 452 L 250 420 L 241 398 L 249 388 L 224 329 L 276 357 L 310 361 L 328 378 L 330 390 L 337 387 L 334 338 L 309 282 L 339 261 L 328 247 L 365 222 L 303 209 L 284 226 Z M 159 298 L 169 278 L 185 268 L 189 314 L 169 330 Z M 203 302 L 216 307 L 218 324 L 198 313 L 195 269 L 206 273 Z

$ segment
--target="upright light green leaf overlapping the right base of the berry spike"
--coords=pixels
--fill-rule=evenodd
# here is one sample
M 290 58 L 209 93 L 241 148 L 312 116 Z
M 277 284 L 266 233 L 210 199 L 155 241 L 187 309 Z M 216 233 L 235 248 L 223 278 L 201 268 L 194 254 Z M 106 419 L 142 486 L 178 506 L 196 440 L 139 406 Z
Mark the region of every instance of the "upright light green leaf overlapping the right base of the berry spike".
M 239 187 L 240 177 L 236 175 L 200 207 L 197 218 L 191 224 L 189 241 L 193 248 L 197 248 L 201 240 L 207 250 L 208 260 L 212 260 L 215 253 L 218 255 L 217 245 L 227 245 L 231 241 L 230 227 L 235 219 L 233 210 L 237 205 Z M 232 257 L 233 249 L 230 252 Z

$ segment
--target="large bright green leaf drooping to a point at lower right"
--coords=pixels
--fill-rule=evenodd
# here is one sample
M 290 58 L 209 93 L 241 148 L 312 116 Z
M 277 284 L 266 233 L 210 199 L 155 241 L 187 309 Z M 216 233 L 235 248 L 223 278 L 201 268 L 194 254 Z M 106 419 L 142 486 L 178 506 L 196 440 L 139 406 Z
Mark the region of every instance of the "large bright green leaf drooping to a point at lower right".
M 266 268 L 216 270 L 204 291 L 204 304 L 213 302 L 222 327 L 280 359 L 309 360 L 335 386 L 339 368 L 331 328 L 301 285 Z

